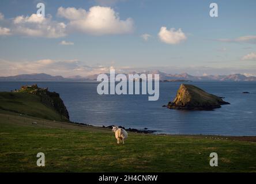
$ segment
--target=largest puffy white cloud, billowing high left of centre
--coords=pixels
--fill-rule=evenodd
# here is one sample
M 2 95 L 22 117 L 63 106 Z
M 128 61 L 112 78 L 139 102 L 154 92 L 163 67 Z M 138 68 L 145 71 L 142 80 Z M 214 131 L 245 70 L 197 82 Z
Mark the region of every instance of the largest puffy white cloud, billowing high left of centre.
M 58 16 L 69 20 L 67 28 L 72 32 L 103 35 L 103 34 L 123 34 L 133 32 L 133 20 L 127 18 L 120 20 L 119 14 L 111 7 L 93 6 L 86 11 L 74 7 L 59 7 Z

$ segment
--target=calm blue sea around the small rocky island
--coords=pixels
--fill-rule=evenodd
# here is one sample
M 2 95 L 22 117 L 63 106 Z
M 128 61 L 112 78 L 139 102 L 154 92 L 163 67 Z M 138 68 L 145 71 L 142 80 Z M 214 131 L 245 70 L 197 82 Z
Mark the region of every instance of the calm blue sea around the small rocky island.
M 174 99 L 180 82 L 160 83 L 158 101 L 148 101 L 148 95 L 99 95 L 97 82 L 0 82 L 0 91 L 34 83 L 61 95 L 71 121 L 169 134 L 256 135 L 256 82 L 190 82 L 231 103 L 213 111 L 162 108 Z

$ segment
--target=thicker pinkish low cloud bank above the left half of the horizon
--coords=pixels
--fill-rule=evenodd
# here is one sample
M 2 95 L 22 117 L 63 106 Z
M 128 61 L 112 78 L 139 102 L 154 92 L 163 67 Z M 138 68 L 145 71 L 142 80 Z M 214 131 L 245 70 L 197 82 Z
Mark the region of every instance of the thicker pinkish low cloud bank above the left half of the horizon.
M 42 59 L 35 61 L 14 62 L 0 59 L 1 76 L 11 76 L 20 74 L 46 73 L 50 75 L 88 76 L 109 72 L 106 66 L 88 66 L 79 60 L 52 60 Z

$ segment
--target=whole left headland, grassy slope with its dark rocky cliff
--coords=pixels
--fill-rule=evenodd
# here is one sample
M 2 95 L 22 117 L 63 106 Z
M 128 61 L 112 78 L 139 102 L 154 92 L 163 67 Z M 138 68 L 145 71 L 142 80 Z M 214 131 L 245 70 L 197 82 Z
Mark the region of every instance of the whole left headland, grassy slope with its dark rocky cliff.
M 0 91 L 0 113 L 70 122 L 69 112 L 59 94 L 37 85 L 22 86 L 10 92 Z

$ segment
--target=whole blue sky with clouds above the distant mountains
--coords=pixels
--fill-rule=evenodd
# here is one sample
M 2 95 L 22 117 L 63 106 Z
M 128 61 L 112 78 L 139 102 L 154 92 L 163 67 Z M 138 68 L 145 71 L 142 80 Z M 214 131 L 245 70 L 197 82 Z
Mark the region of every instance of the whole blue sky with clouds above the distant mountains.
M 212 2 L 218 17 L 209 15 Z M 255 9 L 254 0 L 1 0 L 0 76 L 110 67 L 256 76 Z

